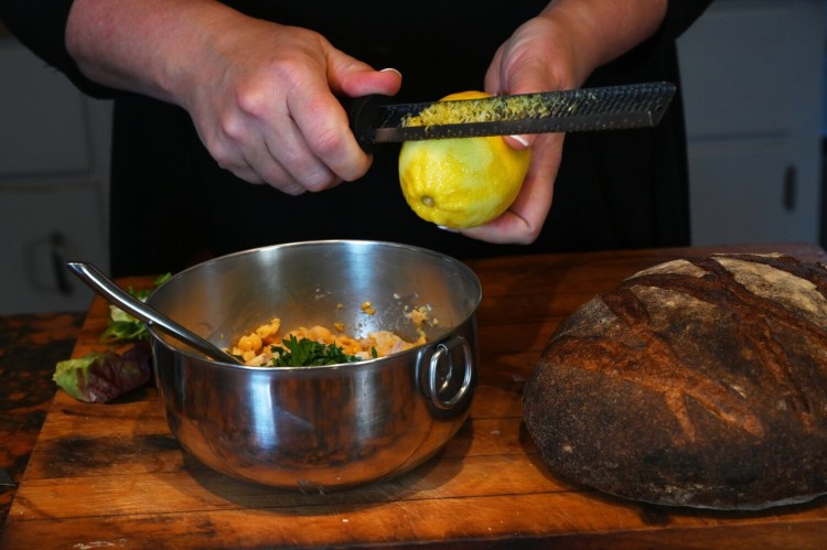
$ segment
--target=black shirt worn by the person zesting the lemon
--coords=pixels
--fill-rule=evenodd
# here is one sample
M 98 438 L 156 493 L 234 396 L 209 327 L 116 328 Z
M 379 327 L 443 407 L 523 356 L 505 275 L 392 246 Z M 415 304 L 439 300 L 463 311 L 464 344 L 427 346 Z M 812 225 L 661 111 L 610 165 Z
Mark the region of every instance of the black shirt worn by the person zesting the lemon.
M 597 69 L 586 86 L 679 84 L 675 39 L 711 0 L 669 2 L 658 33 Z M 400 101 L 482 89 L 496 48 L 545 0 L 225 2 L 254 17 L 319 31 L 375 68 L 402 75 Z M 114 276 L 176 271 L 211 256 L 277 242 L 380 239 L 459 258 L 689 244 L 680 91 L 654 129 L 570 133 L 551 212 L 529 246 L 491 245 L 443 231 L 405 203 L 398 145 L 383 145 L 359 181 L 284 195 L 219 169 L 182 109 L 85 79 L 65 52 L 71 0 L 0 0 L 0 18 L 82 89 L 116 98 L 111 173 Z

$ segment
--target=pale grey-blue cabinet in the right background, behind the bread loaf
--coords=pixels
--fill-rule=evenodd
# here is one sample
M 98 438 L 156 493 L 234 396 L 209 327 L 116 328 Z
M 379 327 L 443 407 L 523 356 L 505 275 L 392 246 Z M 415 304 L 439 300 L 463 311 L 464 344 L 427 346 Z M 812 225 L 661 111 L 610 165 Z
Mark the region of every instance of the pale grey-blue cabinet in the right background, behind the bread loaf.
M 823 0 L 718 0 L 678 43 L 694 245 L 817 242 Z

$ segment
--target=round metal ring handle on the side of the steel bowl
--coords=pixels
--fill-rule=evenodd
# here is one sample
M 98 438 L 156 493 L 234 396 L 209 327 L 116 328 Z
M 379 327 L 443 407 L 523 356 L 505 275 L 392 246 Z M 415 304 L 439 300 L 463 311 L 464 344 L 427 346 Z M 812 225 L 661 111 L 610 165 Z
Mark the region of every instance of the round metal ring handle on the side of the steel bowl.
M 462 353 L 463 370 L 461 375 L 454 368 L 454 358 L 458 355 L 454 352 Z M 474 363 L 471 345 L 462 336 L 453 335 L 444 342 L 437 344 L 436 351 L 428 362 L 428 370 L 425 377 L 425 395 L 431 398 L 431 402 L 437 409 L 449 410 L 459 403 L 465 397 L 465 393 L 470 391 Z M 451 387 L 451 381 L 455 376 L 462 376 L 462 384 L 453 396 L 443 399 L 442 393 Z

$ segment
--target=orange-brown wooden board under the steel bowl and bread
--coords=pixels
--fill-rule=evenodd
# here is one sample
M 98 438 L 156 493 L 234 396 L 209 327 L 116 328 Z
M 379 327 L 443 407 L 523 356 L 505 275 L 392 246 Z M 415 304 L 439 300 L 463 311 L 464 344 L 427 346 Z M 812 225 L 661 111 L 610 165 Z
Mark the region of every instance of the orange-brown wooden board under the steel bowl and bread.
M 827 261 L 808 245 L 735 249 Z M 827 499 L 751 514 L 624 502 L 556 477 L 522 424 L 524 380 L 560 320 L 642 268 L 722 250 L 733 248 L 469 262 L 484 292 L 471 418 L 431 461 L 357 489 L 301 494 L 214 473 L 182 452 L 152 388 L 110 405 L 57 392 L 0 548 L 821 548 Z M 74 355 L 99 348 L 104 324 L 96 300 Z

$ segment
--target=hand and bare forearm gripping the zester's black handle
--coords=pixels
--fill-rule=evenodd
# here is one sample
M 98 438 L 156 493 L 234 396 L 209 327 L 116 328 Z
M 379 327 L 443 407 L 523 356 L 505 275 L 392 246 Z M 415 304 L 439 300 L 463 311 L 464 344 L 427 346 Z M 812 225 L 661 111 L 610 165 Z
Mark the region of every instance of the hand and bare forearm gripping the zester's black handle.
M 370 165 L 336 95 L 394 95 L 401 84 L 315 32 L 214 0 L 74 0 L 66 45 L 90 79 L 186 109 L 223 168 L 290 194 Z

